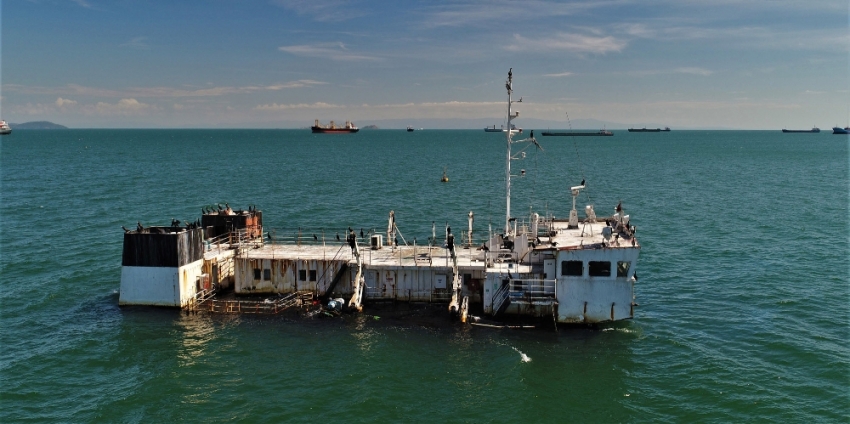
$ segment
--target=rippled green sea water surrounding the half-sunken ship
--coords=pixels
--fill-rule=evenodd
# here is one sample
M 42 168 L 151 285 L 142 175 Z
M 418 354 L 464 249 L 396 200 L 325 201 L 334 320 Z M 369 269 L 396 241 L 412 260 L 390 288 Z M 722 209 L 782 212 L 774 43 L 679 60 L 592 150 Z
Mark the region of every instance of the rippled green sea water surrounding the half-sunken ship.
M 0 422 L 847 422 L 848 138 L 538 137 L 512 211 L 587 180 L 643 249 L 635 319 L 494 330 L 118 307 L 121 226 L 257 205 L 267 230 L 504 223 L 483 131 L 15 131 L 0 139 Z M 515 149 L 516 151 L 516 149 Z M 451 182 L 439 182 L 443 169 Z M 531 357 L 522 362 L 520 353 Z

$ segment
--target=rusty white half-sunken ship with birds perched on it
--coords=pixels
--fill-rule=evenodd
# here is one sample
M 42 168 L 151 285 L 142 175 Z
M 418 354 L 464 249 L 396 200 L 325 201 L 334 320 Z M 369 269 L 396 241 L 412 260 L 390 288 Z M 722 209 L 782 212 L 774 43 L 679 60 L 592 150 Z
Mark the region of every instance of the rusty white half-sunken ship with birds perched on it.
M 508 127 L 512 75 L 508 74 Z M 370 302 L 444 304 L 462 321 L 470 310 L 490 318 L 548 318 L 557 323 L 600 323 L 634 317 L 635 268 L 640 244 L 620 204 L 597 218 L 593 205 L 579 217 L 585 189 L 569 187 L 568 219 L 510 211 L 511 162 L 540 148 L 533 135 L 513 140 L 504 131 L 504 227 L 475 233 L 474 214 L 457 233 L 432 229 L 429 242 L 401 237 L 390 211 L 386 230 L 264 232 L 262 212 L 229 205 L 204 208 L 190 224 L 126 230 L 122 305 L 173 306 L 212 312 L 277 313 L 319 303 L 353 311 Z M 514 144 L 523 150 L 512 154 Z

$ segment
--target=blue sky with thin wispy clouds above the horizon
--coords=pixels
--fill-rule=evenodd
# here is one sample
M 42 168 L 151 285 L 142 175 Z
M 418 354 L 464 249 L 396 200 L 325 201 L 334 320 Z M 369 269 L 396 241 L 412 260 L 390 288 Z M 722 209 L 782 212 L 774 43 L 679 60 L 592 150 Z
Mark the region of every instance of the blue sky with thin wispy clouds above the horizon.
M 4 0 L 0 116 L 73 128 L 850 120 L 847 0 Z M 519 120 L 521 123 L 522 119 Z

